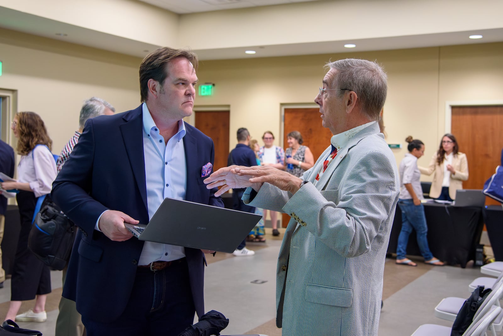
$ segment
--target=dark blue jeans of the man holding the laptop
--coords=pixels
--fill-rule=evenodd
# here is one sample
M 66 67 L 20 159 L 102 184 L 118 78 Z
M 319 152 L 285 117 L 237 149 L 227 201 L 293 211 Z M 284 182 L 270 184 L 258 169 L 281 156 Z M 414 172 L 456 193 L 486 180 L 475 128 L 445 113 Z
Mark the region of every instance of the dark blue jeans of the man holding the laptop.
M 194 323 L 195 311 L 183 258 L 160 271 L 138 268 L 128 304 L 118 319 L 97 322 L 82 315 L 82 322 L 88 336 L 178 336 Z

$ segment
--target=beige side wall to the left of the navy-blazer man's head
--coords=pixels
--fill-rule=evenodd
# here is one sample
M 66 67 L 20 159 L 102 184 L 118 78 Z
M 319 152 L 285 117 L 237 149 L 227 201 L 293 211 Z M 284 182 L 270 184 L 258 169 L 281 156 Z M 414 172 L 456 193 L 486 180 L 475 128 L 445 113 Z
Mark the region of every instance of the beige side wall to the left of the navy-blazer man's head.
M 15 45 L 2 35 L 7 33 L 16 39 Z M 17 91 L 18 111 L 33 111 L 42 117 L 54 153 L 78 129 L 80 107 L 87 98 L 103 98 L 117 111 L 140 103 L 141 59 L 8 30 L 0 30 L 0 35 L 0 89 Z M 9 138 L 14 143 L 12 132 Z

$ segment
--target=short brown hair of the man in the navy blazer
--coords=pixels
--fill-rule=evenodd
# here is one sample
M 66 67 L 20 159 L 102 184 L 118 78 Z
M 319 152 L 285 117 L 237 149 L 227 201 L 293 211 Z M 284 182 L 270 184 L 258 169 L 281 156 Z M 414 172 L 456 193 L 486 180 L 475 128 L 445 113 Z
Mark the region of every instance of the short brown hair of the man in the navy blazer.
M 155 49 L 143 58 L 140 64 L 140 96 L 142 103 L 147 101 L 148 80 L 158 81 L 162 88 L 164 79 L 168 76 L 166 65 L 177 57 L 187 58 L 194 66 L 194 71 L 197 71 L 197 55 L 191 50 L 162 47 Z

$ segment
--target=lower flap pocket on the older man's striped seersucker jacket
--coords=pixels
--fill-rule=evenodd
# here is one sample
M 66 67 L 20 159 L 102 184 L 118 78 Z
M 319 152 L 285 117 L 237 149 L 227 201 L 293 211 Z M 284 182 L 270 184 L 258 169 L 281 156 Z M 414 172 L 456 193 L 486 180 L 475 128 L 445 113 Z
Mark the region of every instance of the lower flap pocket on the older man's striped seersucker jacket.
M 307 284 L 306 300 L 329 306 L 351 307 L 353 305 L 353 290 L 348 288 Z

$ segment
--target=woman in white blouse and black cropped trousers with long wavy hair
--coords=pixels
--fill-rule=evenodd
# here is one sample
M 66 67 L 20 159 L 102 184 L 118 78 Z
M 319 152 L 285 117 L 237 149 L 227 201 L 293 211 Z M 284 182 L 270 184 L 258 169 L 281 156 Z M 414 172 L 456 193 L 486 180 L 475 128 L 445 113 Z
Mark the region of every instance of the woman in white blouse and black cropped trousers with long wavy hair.
M 44 322 L 47 319 L 45 301 L 51 292 L 50 270 L 28 249 L 28 235 L 37 198 L 51 192 L 57 174 L 56 162 L 50 151 L 52 140 L 38 114 L 17 113 L 11 128 L 18 138 L 17 152 L 21 155 L 18 181 L 3 182 L 2 188 L 19 190 L 16 200 L 21 231 L 11 281 L 11 303 L 5 319 Z M 33 309 L 18 315 L 22 301 L 35 298 Z

